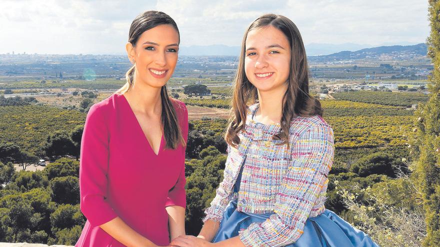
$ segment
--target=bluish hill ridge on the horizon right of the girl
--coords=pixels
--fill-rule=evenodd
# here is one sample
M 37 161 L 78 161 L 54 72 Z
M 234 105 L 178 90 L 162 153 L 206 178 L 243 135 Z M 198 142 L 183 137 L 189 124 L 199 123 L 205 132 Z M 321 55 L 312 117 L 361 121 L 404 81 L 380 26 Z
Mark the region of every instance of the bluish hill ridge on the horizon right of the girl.
M 310 61 L 349 60 L 379 58 L 381 56 L 391 58 L 411 59 L 416 56 L 426 56 L 427 45 L 419 43 L 415 45 L 392 45 L 364 48 L 356 51 L 340 51 L 329 55 L 309 56 Z

